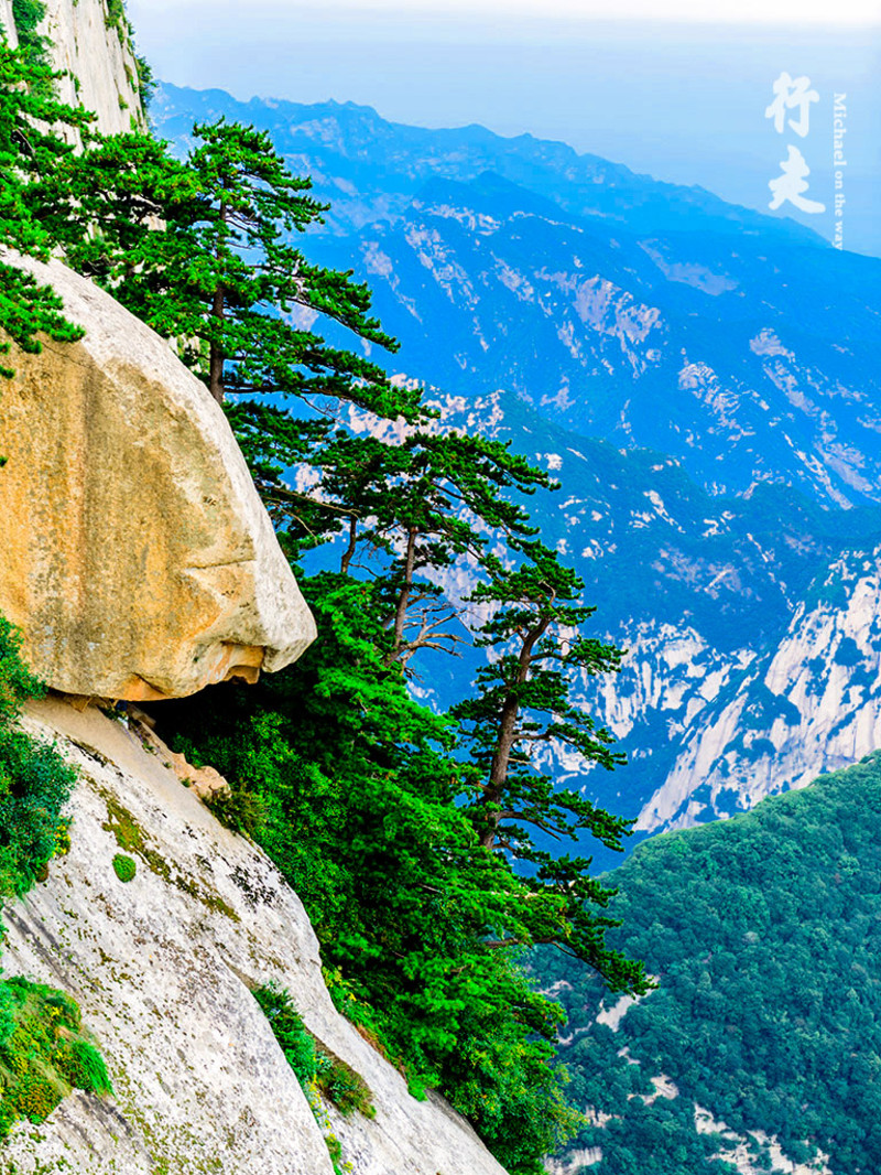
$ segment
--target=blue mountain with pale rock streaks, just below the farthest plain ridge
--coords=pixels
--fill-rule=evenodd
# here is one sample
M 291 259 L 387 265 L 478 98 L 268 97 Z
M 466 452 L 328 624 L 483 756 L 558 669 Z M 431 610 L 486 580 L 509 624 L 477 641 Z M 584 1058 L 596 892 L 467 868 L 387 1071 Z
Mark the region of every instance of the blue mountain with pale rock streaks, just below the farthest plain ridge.
M 484 175 L 431 181 L 395 226 L 323 244 L 339 262 L 357 248 L 403 363 L 431 383 L 504 388 L 677 456 L 714 494 L 775 481 L 876 501 L 881 261 L 707 219 L 610 230 Z

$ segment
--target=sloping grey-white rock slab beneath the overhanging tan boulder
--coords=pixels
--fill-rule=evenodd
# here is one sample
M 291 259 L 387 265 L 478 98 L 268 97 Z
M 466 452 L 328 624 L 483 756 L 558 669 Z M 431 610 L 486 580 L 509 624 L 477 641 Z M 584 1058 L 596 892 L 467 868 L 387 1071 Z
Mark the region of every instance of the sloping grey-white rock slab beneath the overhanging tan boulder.
M 332 1175 L 323 1134 L 250 988 L 287 988 L 311 1032 L 370 1088 L 376 1119 L 330 1116 L 355 1175 L 504 1175 L 471 1128 L 404 1080 L 334 1009 L 296 894 L 120 723 L 52 699 L 27 725 L 81 783 L 70 852 L 11 907 L 4 969 L 69 992 L 115 1096 L 68 1097 L 19 1126 L 0 1170 L 36 1175 Z M 140 831 L 122 884 L 110 826 Z

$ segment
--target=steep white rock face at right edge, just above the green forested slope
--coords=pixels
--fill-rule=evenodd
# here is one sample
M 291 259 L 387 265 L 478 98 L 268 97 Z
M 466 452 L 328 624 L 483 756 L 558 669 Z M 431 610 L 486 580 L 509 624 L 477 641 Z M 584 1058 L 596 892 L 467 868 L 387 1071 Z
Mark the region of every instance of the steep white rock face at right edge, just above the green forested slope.
M 745 811 L 881 746 L 881 548 L 836 559 L 778 647 L 731 680 L 695 713 L 638 827 Z

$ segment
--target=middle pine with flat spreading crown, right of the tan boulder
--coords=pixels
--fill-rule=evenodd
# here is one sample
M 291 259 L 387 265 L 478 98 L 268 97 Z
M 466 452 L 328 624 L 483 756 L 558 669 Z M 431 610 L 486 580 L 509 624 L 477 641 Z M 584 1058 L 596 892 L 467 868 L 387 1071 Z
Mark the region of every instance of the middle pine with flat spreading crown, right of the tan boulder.
M 257 485 L 291 553 L 341 533 L 339 570 L 362 552 L 383 607 L 386 662 L 406 667 L 421 649 L 455 651 L 464 629 L 460 604 L 441 584 L 459 560 L 478 571 L 487 548 L 534 533 L 511 491 L 531 495 L 554 483 L 510 443 L 421 427 L 388 442 L 297 421 L 274 405 L 246 402 L 230 411 Z M 310 484 L 285 484 L 285 470 L 308 462 Z

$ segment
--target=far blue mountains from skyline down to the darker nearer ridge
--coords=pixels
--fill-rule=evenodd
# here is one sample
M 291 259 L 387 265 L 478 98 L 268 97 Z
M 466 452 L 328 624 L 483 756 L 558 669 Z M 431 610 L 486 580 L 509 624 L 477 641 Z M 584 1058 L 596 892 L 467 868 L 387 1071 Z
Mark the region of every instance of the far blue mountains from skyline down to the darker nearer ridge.
M 218 90 L 155 105 L 177 141 L 220 114 L 269 129 L 332 202 L 314 249 L 370 281 L 410 375 L 670 452 L 711 492 L 881 495 L 881 261 L 529 135 Z

